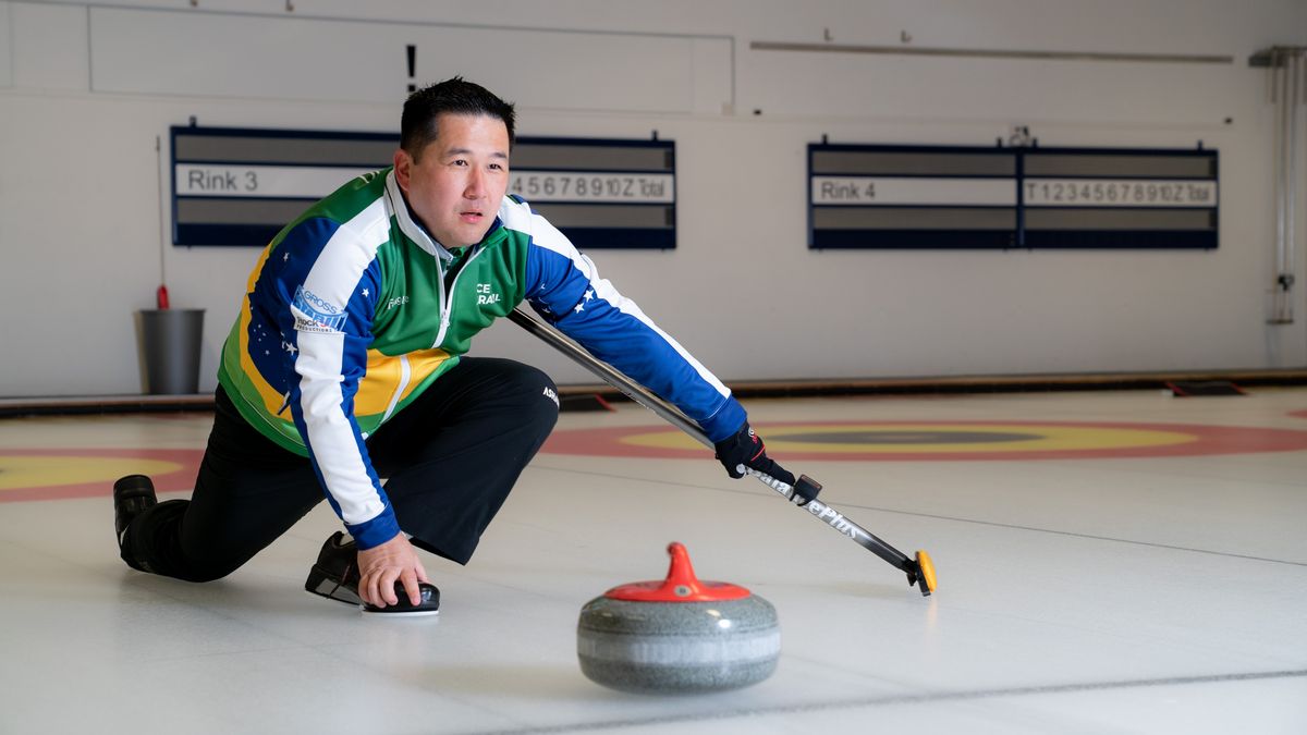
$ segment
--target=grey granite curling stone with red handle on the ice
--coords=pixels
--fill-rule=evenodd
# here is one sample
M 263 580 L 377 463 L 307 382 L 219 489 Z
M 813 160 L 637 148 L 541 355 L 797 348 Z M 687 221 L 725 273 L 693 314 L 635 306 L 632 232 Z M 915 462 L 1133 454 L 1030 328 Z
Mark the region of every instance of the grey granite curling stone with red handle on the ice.
M 691 693 L 757 684 L 776 670 L 771 603 L 745 587 L 701 582 L 672 543 L 665 581 L 613 587 L 586 603 L 576 655 L 592 681 L 637 693 Z

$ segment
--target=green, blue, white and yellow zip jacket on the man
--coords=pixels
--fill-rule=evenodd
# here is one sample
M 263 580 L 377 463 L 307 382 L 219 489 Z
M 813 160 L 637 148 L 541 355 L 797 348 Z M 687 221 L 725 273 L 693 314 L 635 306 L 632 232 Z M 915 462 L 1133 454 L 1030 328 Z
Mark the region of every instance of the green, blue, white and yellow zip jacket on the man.
M 400 530 L 366 439 L 527 301 L 714 441 L 745 412 L 553 225 L 515 196 L 476 246 L 451 252 L 418 225 L 395 174 L 358 177 L 286 225 L 250 276 L 218 382 L 240 415 L 308 456 L 359 548 Z

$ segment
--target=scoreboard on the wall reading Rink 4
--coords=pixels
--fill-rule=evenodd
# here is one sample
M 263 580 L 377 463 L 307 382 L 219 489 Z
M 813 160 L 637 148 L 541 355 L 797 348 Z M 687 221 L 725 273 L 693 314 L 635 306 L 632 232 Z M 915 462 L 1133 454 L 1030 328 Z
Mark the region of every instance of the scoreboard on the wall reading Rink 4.
M 810 248 L 1214 248 L 1205 149 L 808 145 Z

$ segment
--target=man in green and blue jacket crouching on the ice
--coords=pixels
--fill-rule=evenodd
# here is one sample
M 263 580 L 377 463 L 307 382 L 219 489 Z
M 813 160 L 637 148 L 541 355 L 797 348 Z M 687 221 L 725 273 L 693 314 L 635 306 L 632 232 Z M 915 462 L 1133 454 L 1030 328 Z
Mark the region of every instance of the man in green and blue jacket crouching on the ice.
M 467 564 L 557 420 L 544 373 L 464 357 L 521 301 L 680 407 L 732 476 L 793 483 L 725 386 L 505 196 L 514 118 L 457 77 L 418 90 L 393 167 L 277 234 L 223 345 L 191 500 L 156 504 L 141 475 L 115 484 L 128 565 L 225 577 L 325 496 L 352 538 L 327 540 L 306 589 L 372 612 L 438 609 L 414 547 Z

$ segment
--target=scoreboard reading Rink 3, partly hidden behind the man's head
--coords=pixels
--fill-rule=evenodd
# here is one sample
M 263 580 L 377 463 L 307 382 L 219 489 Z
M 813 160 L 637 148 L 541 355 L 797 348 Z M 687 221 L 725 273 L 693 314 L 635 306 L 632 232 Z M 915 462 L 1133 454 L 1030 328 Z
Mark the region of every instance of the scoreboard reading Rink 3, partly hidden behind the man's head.
M 171 128 L 173 243 L 263 247 L 349 179 L 389 166 L 399 136 Z M 508 194 L 578 247 L 676 247 L 676 144 L 519 137 Z

